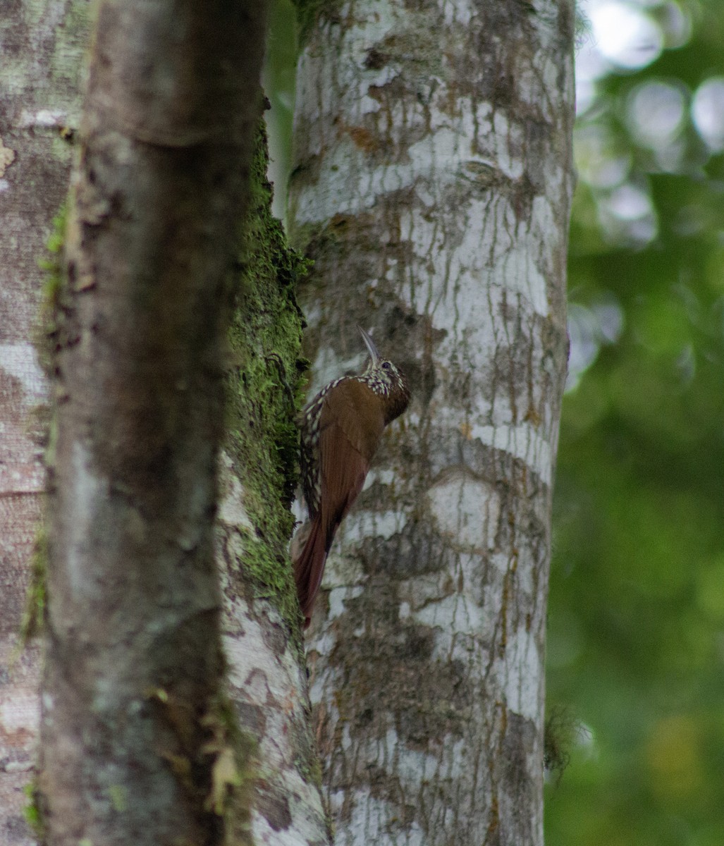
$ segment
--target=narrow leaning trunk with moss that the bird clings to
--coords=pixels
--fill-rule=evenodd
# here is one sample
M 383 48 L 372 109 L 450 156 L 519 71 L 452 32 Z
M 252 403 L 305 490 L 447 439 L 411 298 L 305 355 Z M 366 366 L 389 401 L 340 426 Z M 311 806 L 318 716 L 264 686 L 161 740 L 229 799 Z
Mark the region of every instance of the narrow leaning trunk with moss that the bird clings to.
M 329 842 L 287 553 L 299 444 L 295 409 L 308 366 L 299 360 L 294 288 L 306 262 L 271 217 L 266 164 L 260 133 L 229 333 L 217 552 L 228 686 L 239 724 L 256 744 L 251 834 L 256 846 L 299 846 Z

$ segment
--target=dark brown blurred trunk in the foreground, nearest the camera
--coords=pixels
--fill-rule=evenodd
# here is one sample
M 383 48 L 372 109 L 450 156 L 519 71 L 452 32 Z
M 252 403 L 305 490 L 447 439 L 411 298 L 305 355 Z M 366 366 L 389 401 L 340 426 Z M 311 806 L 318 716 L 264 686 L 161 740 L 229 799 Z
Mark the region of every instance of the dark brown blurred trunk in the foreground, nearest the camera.
M 217 843 L 217 449 L 262 3 L 97 10 L 57 296 L 40 805 L 48 843 Z

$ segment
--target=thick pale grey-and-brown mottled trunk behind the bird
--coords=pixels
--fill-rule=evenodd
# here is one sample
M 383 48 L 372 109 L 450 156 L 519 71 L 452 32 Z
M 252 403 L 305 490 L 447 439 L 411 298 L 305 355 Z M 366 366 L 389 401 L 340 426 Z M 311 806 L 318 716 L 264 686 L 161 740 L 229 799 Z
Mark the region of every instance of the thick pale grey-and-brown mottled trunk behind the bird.
M 336 841 L 540 846 L 573 3 L 302 5 L 315 386 L 359 323 L 413 389 L 308 639 Z

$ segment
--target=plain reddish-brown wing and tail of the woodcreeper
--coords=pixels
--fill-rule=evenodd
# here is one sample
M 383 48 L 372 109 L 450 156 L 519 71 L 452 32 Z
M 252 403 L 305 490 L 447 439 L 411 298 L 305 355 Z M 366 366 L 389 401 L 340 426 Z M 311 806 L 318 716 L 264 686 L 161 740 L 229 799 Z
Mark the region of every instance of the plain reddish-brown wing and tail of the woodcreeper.
M 326 553 L 337 526 L 365 484 L 383 429 L 380 401 L 354 379 L 340 382 L 325 398 L 320 416 L 321 506 L 312 520 L 304 550 L 294 563 L 306 625 L 321 585 Z

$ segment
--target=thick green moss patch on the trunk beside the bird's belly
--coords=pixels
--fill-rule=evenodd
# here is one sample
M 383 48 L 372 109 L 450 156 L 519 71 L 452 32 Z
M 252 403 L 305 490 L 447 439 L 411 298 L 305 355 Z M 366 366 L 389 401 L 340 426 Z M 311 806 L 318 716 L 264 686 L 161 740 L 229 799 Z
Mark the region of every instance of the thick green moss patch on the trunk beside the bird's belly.
M 244 488 L 253 531 L 241 533 L 244 587 L 298 618 L 288 541 L 298 479 L 296 415 L 309 363 L 299 358 L 304 321 L 294 288 L 309 262 L 292 250 L 271 215 L 266 131 L 260 130 L 251 174 L 249 217 L 239 288 L 229 331 L 227 451 Z

